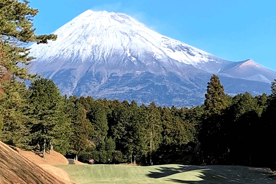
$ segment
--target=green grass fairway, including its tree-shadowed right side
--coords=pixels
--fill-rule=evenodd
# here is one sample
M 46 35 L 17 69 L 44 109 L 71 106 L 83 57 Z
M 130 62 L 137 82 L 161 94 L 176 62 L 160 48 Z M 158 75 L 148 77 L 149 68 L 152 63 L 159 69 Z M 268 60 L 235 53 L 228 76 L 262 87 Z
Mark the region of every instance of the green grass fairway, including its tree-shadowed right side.
M 272 184 L 269 169 L 243 166 L 184 165 L 55 165 L 65 170 L 73 183 L 187 183 L 187 184 Z

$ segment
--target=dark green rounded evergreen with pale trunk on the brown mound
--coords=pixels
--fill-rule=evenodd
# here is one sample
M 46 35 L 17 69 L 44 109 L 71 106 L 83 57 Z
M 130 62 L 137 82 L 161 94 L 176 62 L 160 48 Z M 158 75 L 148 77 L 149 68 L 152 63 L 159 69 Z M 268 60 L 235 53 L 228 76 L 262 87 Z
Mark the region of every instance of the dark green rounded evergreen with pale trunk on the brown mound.
M 29 90 L 32 142 L 39 144 L 43 157 L 47 145 L 56 145 L 65 152 L 69 148 L 71 130 L 63 112 L 64 101 L 59 89 L 52 80 L 42 78 L 31 83 Z

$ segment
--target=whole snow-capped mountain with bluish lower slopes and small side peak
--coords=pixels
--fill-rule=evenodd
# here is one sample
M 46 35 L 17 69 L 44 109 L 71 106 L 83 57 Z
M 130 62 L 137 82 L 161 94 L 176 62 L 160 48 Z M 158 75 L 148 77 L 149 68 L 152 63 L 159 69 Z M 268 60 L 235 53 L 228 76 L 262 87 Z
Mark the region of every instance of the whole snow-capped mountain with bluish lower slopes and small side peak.
M 213 73 L 225 91 L 269 93 L 276 72 L 246 60 L 230 62 L 160 35 L 126 14 L 87 10 L 31 45 L 31 72 L 51 78 L 62 94 L 155 101 L 190 106 L 203 102 Z

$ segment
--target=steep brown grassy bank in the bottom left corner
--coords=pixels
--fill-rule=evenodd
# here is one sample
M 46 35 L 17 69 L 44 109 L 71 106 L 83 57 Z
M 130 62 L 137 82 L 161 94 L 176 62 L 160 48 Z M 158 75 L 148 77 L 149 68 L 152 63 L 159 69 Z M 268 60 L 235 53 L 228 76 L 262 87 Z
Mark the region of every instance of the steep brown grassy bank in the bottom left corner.
M 0 141 L 0 184 L 65 184 Z

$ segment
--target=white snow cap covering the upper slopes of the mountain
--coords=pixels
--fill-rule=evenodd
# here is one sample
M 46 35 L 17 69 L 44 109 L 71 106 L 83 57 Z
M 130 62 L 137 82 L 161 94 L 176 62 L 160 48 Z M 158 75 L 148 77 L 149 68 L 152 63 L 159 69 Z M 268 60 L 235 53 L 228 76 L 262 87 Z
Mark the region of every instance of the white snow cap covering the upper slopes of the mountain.
M 210 54 L 193 48 L 185 43 L 160 35 L 143 24 L 121 13 L 94 12 L 87 10 L 80 14 L 54 34 L 56 41 L 47 45 L 34 44 L 32 55 L 51 62 L 55 57 L 73 59 L 71 62 L 92 62 L 106 59 L 106 64 L 114 52 L 122 52 L 134 64 L 137 58 L 146 52 L 152 52 L 153 58 L 169 62 L 169 59 L 184 64 L 198 65 L 214 61 Z M 46 49 L 46 50 L 43 50 Z M 91 55 L 91 51 L 95 51 Z M 153 61 L 142 61 L 150 64 Z

